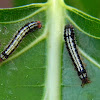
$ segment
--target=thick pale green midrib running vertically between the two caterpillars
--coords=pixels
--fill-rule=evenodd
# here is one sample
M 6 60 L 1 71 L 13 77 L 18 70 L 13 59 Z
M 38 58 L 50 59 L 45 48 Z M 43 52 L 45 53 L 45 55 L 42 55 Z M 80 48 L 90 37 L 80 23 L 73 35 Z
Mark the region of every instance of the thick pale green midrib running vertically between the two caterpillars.
M 61 0 L 49 0 L 47 21 L 49 27 L 46 100 L 61 99 L 61 58 L 64 13 Z

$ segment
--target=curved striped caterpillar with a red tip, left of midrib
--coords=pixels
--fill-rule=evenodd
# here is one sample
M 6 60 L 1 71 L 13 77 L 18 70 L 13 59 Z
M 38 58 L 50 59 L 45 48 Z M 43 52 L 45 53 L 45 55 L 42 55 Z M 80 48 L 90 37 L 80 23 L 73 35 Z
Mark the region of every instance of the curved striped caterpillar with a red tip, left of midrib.
M 22 41 L 22 39 L 32 31 L 35 31 L 36 29 L 41 28 L 40 21 L 33 21 L 30 23 L 27 23 L 22 27 L 14 36 L 14 38 L 11 40 L 9 45 L 6 47 L 6 49 L 0 54 L 0 62 L 3 60 L 6 60 L 9 55 L 16 49 L 18 44 Z

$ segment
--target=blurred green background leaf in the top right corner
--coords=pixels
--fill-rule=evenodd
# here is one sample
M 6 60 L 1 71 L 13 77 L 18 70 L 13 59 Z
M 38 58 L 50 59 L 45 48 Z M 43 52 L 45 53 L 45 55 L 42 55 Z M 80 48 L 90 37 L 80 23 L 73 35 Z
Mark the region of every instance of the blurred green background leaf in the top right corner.
M 65 3 L 78 8 L 89 15 L 100 18 L 99 4 L 100 0 L 65 0 Z

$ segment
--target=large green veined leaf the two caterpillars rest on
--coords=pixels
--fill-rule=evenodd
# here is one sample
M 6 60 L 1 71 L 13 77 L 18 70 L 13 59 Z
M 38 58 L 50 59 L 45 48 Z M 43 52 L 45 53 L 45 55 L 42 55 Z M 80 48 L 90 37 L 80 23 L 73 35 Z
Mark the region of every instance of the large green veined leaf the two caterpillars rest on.
M 100 20 L 63 0 L 0 9 L 0 52 L 31 21 L 40 21 L 42 29 L 28 34 L 0 64 L 0 100 L 100 98 Z M 63 39 L 64 26 L 69 23 L 75 28 L 78 50 L 91 80 L 83 88 Z

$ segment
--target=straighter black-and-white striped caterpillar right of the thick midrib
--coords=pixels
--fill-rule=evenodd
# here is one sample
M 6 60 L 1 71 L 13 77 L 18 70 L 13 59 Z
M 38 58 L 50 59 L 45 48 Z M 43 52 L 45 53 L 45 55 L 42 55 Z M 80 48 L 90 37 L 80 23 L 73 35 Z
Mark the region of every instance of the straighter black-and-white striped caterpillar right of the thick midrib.
M 75 33 L 72 25 L 66 25 L 64 29 L 64 40 L 69 52 L 69 55 L 74 63 L 75 69 L 77 70 L 79 78 L 82 80 L 82 86 L 87 83 L 90 83 L 87 72 L 83 66 L 83 63 L 80 59 L 76 43 L 75 43 Z

